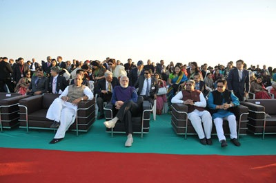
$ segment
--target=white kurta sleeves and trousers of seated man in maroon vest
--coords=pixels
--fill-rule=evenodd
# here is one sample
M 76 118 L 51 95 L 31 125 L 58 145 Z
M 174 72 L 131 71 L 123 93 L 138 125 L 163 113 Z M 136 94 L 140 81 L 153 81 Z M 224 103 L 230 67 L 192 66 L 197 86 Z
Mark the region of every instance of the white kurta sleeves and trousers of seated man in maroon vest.
M 172 103 L 181 103 L 183 104 L 183 95 L 182 92 L 179 92 L 176 96 L 172 98 Z M 202 92 L 199 94 L 200 101 L 195 102 L 195 106 L 197 107 L 206 107 L 206 99 L 204 98 L 204 95 Z M 211 132 L 212 132 L 212 116 L 207 110 L 204 111 L 199 111 L 195 109 L 194 111 L 188 113 L 188 119 L 192 123 L 195 131 L 197 132 L 197 135 L 199 136 L 200 139 L 206 137 L 206 138 L 211 138 Z M 201 120 L 203 122 L 204 130 L 201 125 Z M 205 134 L 204 134 L 205 131 Z

